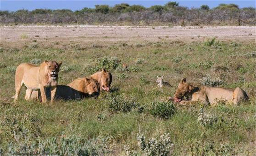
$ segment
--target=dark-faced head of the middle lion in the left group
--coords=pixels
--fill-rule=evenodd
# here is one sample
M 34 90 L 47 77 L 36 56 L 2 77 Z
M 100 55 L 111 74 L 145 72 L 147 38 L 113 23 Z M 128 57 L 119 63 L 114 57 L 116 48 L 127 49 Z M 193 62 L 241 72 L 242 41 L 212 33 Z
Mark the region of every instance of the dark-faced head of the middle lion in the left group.
M 97 97 L 100 94 L 99 83 L 91 77 L 85 77 L 84 93 Z

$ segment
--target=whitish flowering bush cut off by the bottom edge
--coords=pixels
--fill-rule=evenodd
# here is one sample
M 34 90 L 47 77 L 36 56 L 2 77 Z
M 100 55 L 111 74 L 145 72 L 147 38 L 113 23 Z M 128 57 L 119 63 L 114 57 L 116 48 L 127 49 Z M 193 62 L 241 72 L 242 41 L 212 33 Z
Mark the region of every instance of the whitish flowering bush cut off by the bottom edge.
M 145 139 L 144 134 L 137 134 L 137 141 L 144 155 L 172 155 L 172 144 L 169 133 L 164 133 L 160 138 Z

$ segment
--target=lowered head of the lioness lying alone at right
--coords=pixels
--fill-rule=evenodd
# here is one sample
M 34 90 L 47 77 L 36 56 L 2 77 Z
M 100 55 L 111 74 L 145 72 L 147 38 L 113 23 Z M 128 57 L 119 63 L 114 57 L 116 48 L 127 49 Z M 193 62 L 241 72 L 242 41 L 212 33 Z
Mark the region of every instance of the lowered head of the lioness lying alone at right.
M 192 84 L 186 83 L 186 78 L 183 78 L 178 88 L 174 94 L 174 101 L 180 102 L 184 96 L 187 96 L 188 93 L 190 93 L 193 90 L 194 86 Z

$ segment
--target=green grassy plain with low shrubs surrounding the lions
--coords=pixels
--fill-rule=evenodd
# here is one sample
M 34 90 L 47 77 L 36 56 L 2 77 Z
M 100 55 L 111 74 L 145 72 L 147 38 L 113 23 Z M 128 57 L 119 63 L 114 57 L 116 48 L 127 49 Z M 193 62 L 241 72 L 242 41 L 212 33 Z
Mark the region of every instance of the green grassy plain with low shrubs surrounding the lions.
M 145 32 L 141 29 L 137 31 Z M 42 37 L 44 31 L 36 27 L 37 36 L 10 31 L 13 38 L 8 39 L 1 31 L 0 155 L 255 154 L 255 31 L 228 39 L 212 33 L 170 39 L 169 31 L 166 37 L 149 40 L 143 33 L 137 34 L 139 39 L 126 39 L 127 34 L 119 31 L 117 37 L 101 31 L 98 36 L 69 39 L 63 33 L 47 37 L 47 31 Z M 16 67 L 46 59 L 63 61 L 59 84 L 108 68 L 113 75 L 111 92 L 102 92 L 97 99 L 44 105 L 25 101 L 23 87 L 14 103 L 10 97 Z M 156 87 L 156 75 L 163 74 L 174 87 Z M 238 106 L 163 102 L 184 77 L 188 82 L 241 87 L 250 100 Z

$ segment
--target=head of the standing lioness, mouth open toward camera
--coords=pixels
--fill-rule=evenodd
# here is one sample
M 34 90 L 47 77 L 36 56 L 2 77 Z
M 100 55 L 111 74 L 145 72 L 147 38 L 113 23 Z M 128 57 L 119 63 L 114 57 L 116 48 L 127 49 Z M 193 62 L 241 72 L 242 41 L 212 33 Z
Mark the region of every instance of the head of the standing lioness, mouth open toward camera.
M 60 71 L 60 66 L 62 62 L 56 62 L 56 61 L 48 61 L 45 60 L 44 63 L 46 63 L 46 69 L 47 73 L 52 79 L 56 79 L 58 77 L 58 72 Z

